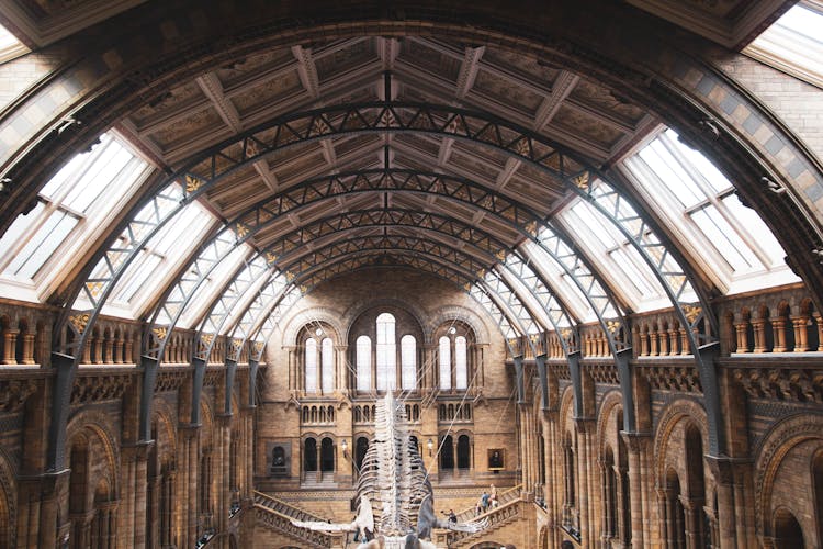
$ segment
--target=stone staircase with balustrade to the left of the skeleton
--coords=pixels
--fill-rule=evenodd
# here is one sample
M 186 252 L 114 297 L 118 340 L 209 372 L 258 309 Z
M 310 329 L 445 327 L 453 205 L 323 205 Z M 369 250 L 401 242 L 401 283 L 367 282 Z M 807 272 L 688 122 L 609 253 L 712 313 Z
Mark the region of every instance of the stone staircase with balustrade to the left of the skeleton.
M 258 525 L 266 526 L 278 534 L 297 541 L 300 547 L 342 547 L 343 534 L 307 530 L 292 524 L 292 519 L 323 522 L 323 518 L 293 507 L 262 492 L 255 492 L 255 514 Z

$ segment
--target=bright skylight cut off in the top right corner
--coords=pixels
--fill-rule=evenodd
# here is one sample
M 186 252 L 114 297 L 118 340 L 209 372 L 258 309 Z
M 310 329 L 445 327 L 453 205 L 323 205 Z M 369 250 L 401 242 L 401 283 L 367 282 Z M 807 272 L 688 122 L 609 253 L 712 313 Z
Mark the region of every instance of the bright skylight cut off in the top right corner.
M 823 1 L 803 0 L 743 53 L 823 88 Z

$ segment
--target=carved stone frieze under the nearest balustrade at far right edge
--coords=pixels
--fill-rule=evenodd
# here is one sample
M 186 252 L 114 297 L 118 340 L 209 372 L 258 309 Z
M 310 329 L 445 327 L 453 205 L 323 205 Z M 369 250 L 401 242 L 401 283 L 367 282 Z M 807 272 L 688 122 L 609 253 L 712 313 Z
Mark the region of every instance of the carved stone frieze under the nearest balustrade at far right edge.
M 737 368 L 734 379 L 754 399 L 823 402 L 823 370 Z

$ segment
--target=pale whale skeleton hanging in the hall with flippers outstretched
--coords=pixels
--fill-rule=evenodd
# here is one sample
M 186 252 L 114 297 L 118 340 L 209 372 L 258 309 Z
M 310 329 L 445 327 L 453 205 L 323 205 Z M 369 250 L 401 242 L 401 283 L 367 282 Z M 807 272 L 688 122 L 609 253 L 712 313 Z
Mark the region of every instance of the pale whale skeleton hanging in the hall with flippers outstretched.
M 480 531 L 487 522 L 455 524 L 435 515 L 431 483 L 408 432 L 405 411 L 391 391 L 377 403 L 374 438 L 363 458 L 358 481 L 358 515 L 349 524 L 292 520 L 295 526 L 324 531 L 358 531 L 360 547 L 380 538 L 386 547 L 433 547 L 432 528 Z M 406 545 L 410 544 L 410 545 Z

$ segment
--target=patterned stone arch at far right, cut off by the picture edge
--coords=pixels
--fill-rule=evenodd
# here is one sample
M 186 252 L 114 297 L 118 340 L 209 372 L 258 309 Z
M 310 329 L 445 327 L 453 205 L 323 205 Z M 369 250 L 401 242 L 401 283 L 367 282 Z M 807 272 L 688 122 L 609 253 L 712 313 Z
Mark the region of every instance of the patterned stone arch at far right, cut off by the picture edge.
M 823 447 L 823 416 L 792 415 L 780 421 L 763 437 L 754 452 L 754 489 L 758 494 L 755 500 L 755 528 L 758 535 L 774 534 L 771 519 L 777 509 L 773 509 L 773 495 L 778 469 L 793 448 L 807 441 L 819 441 Z

